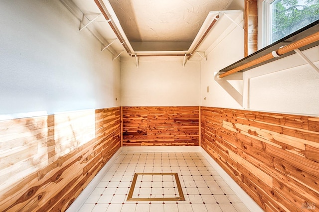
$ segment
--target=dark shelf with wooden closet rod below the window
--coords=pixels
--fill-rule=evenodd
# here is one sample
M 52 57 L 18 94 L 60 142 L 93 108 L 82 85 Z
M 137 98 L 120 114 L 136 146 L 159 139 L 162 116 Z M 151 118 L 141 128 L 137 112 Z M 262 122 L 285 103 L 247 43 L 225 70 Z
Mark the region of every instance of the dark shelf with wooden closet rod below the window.
M 301 40 L 309 35 L 312 35 L 314 33 L 317 33 L 319 31 L 319 20 L 305 26 L 304 28 L 301 28 L 300 30 L 278 40 L 277 42 L 269 45 L 269 46 L 266 46 L 265 48 L 263 49 L 260 49 L 259 51 L 247 56 L 247 57 L 244 57 L 243 59 L 223 68 L 222 70 L 219 71 L 219 73 L 224 73 L 224 72 L 227 72 L 229 70 L 232 70 L 232 69 L 235 69 L 239 66 L 242 66 L 246 63 L 249 63 L 253 60 L 257 60 L 258 58 L 261 58 L 269 53 L 271 53 L 272 51 L 276 51 L 278 50 L 280 47 L 282 46 L 285 46 L 285 45 L 289 45 L 293 42 L 296 42 L 298 40 Z M 306 50 L 306 49 L 310 49 L 312 47 L 315 47 L 315 46 L 318 46 L 319 45 L 319 41 L 316 41 L 314 43 L 311 43 L 309 45 L 306 45 L 304 47 L 301 47 L 300 50 L 303 51 L 303 50 Z M 266 63 L 270 63 L 272 61 L 275 61 L 275 60 L 278 60 L 278 59 L 281 59 L 281 58 L 284 58 L 284 57 L 287 57 L 289 55 L 292 55 L 292 54 L 295 54 L 296 52 L 295 51 L 291 51 L 291 52 L 288 52 L 286 54 L 283 54 L 282 56 L 280 57 L 275 57 L 275 58 L 272 58 L 272 59 L 269 59 L 267 61 L 264 61 L 262 63 L 258 63 L 256 65 L 253 65 L 253 66 L 250 66 L 248 68 L 245 68 L 243 70 L 241 70 L 240 72 L 244 72 L 244 71 L 248 71 L 250 69 L 253 69 L 253 68 L 256 68 L 258 66 L 261 66 L 261 65 L 264 65 Z

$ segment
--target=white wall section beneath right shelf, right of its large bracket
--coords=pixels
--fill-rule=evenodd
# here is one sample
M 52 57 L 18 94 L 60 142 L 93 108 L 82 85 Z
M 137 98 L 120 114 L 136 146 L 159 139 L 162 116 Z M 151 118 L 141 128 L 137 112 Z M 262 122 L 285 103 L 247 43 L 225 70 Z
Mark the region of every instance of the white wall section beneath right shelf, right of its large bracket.
M 319 46 L 303 52 L 319 67 Z M 319 115 L 319 73 L 297 54 L 244 72 L 249 108 Z

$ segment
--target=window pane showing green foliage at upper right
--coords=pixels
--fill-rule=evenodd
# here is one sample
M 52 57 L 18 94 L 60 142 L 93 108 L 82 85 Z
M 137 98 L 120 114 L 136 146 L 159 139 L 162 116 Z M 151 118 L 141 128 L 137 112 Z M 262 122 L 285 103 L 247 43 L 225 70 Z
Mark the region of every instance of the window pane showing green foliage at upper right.
M 271 3 L 275 42 L 319 19 L 319 0 L 274 0 Z

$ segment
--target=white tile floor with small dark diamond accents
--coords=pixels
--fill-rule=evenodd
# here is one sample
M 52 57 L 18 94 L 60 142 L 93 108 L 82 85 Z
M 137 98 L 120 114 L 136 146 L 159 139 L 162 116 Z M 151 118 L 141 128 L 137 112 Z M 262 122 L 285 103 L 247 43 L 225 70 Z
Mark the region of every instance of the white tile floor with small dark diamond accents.
M 127 201 L 135 172 L 178 173 L 185 201 Z M 152 189 L 159 183 L 152 180 L 151 176 L 145 177 L 142 182 L 138 180 L 135 193 L 144 194 L 145 198 L 152 197 Z M 160 183 L 163 183 L 164 196 L 168 194 L 166 188 L 169 184 L 164 181 Z M 122 152 L 87 198 L 80 212 L 249 212 L 249 210 L 199 152 Z

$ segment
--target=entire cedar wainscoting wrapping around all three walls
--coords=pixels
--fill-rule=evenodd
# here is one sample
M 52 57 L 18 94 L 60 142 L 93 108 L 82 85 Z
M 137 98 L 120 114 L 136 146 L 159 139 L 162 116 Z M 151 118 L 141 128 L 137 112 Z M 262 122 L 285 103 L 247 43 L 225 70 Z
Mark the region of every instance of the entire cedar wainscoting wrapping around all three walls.
M 123 107 L 122 118 L 124 146 L 201 135 L 265 211 L 318 210 L 319 117 L 179 106 Z M 120 148 L 120 131 L 120 107 L 0 121 L 0 211 L 65 211 Z

